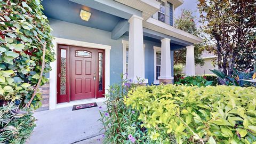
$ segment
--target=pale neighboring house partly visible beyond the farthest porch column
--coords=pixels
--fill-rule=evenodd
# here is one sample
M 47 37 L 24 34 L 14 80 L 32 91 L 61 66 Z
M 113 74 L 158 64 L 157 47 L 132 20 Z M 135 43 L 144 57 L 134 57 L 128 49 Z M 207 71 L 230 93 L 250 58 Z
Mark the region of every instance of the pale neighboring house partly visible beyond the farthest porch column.
M 213 74 L 210 69 L 218 69 L 218 66 L 213 65 L 212 62 L 214 58 L 217 58 L 217 55 L 204 51 L 201 55 L 201 58 L 204 60 L 204 65 L 196 65 L 196 75 Z

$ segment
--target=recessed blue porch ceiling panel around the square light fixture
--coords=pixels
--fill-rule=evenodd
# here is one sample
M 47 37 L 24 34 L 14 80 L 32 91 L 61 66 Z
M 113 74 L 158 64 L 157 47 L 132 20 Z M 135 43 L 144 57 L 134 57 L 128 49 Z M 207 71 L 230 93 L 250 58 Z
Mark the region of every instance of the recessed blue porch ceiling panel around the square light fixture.
M 44 0 L 42 1 L 42 5 L 44 7 L 43 12 L 48 18 L 106 31 L 112 31 L 117 23 L 122 20 L 122 18 L 115 15 L 68 0 Z M 92 13 L 89 21 L 84 21 L 79 17 L 81 10 Z

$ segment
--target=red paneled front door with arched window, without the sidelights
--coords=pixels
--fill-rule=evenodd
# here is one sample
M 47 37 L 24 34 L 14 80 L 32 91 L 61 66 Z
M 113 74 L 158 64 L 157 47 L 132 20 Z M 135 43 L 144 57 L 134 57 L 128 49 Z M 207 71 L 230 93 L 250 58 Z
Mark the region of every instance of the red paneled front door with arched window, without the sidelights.
M 95 49 L 70 46 L 71 100 L 95 98 Z

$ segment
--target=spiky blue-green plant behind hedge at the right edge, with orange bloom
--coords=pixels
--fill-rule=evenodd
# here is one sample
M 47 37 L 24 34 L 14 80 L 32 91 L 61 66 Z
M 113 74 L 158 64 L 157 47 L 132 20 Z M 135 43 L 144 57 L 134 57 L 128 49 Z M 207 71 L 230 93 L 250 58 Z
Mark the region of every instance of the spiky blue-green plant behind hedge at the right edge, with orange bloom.
M 254 69 L 256 69 L 256 63 L 254 63 Z M 211 69 L 210 69 L 211 70 Z M 233 68 L 234 74 L 231 76 L 225 75 L 222 71 L 214 69 L 211 70 L 212 73 L 217 75 L 221 82 L 225 85 L 235 85 L 235 86 L 254 86 L 256 87 L 256 72 L 255 70 L 248 72 L 248 71 L 238 71 Z

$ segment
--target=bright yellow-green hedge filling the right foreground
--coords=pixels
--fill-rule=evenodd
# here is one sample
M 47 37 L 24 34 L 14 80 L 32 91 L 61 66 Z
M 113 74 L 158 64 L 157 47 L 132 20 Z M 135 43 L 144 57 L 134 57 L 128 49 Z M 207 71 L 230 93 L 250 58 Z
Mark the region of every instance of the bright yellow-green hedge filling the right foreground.
M 160 143 L 256 143 L 254 87 L 139 86 L 124 103 Z

